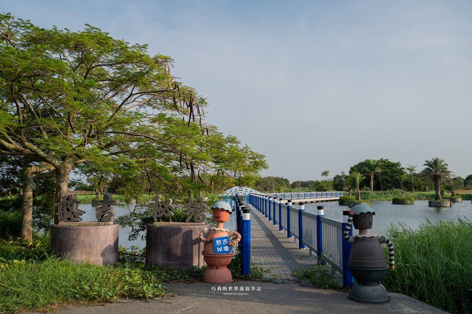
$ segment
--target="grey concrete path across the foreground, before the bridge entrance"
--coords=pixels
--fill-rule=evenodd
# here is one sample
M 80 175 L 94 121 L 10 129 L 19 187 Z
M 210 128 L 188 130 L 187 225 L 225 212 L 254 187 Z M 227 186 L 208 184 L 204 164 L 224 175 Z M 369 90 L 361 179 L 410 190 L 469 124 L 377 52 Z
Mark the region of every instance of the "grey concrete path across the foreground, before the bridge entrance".
M 238 287 L 235 291 L 234 287 Z M 229 287 L 233 290 L 229 291 Z M 244 287 L 244 292 L 241 292 Z M 248 287 L 249 291 L 246 291 Z M 254 287 L 254 291 L 252 289 Z M 168 285 L 177 297 L 144 302 L 120 300 L 99 306 L 59 308 L 59 314 L 400 314 L 446 313 L 432 306 L 397 293 L 389 293 L 390 302 L 383 304 L 358 303 L 348 294 L 336 290 L 301 287 L 273 282 L 236 281 L 228 284 L 204 282 Z M 219 291 L 218 288 L 221 288 Z M 223 289 L 226 288 L 226 291 Z M 229 294 L 230 293 L 230 294 Z

